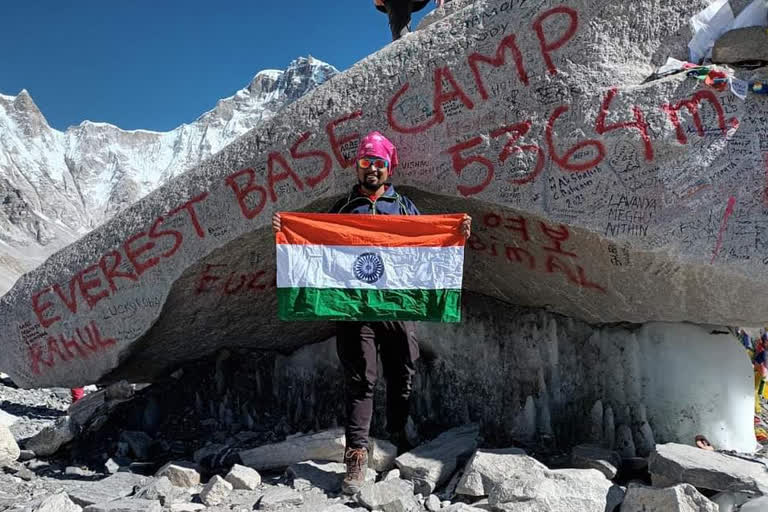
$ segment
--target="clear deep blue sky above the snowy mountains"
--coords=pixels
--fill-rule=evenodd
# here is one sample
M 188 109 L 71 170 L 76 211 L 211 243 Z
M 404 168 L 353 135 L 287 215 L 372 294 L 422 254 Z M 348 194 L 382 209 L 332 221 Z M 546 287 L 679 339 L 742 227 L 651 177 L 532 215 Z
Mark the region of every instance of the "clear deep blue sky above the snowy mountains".
M 27 89 L 59 130 L 170 130 L 262 69 L 311 54 L 344 70 L 391 41 L 373 0 L 30 0 L 2 17 L 0 93 Z

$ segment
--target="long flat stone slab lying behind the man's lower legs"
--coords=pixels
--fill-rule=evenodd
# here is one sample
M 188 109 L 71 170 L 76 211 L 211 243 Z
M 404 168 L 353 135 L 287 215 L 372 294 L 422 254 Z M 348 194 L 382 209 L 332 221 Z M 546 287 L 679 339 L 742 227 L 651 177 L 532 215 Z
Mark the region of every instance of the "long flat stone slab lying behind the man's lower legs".
M 386 471 L 392 466 L 396 448 L 381 439 L 371 439 L 371 444 L 373 450 L 368 465 L 376 471 Z M 307 460 L 344 462 L 345 447 L 344 429 L 336 428 L 243 450 L 239 456 L 246 466 L 262 471 L 286 468 Z

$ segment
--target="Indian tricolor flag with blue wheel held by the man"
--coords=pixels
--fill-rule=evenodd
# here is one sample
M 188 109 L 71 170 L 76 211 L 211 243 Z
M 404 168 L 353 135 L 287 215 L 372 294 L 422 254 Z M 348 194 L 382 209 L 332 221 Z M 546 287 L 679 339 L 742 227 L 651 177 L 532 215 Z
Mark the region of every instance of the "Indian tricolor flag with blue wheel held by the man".
M 461 320 L 463 214 L 281 213 L 282 320 Z

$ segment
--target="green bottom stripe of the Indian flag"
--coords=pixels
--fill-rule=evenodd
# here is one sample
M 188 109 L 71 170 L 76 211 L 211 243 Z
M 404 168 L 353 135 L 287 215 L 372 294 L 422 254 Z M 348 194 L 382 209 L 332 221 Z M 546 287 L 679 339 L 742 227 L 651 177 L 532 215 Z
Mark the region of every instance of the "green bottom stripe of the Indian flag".
M 461 321 L 461 290 L 278 288 L 280 320 Z

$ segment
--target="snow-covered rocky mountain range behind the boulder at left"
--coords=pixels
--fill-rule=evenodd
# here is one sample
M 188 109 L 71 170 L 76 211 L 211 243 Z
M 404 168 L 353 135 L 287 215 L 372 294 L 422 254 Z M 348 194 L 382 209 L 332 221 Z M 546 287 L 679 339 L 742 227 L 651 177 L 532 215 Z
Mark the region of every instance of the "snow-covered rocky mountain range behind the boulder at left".
M 23 272 L 272 117 L 338 71 L 313 57 L 259 72 L 169 132 L 51 128 L 26 90 L 0 94 L 0 295 Z

